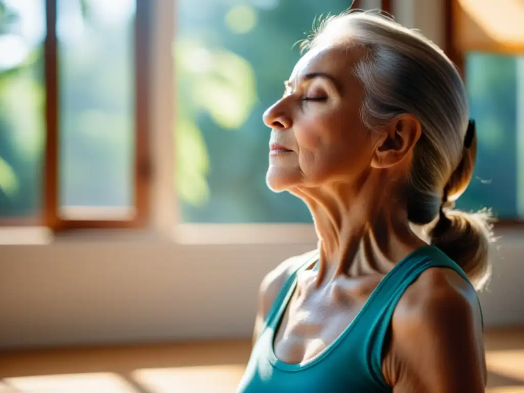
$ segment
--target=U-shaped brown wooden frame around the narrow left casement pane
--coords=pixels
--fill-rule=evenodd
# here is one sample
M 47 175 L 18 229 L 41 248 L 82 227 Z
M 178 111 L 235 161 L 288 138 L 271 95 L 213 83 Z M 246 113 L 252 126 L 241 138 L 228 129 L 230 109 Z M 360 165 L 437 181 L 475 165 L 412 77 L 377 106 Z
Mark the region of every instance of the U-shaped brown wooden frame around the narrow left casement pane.
M 151 178 L 149 155 L 149 51 L 150 0 L 136 0 L 134 24 L 135 68 L 135 154 L 134 206 L 131 220 L 68 220 L 60 217 L 59 198 L 59 111 L 60 79 L 58 70 L 57 0 L 46 0 L 46 39 L 44 68 L 46 86 L 46 144 L 44 154 L 43 225 L 53 231 L 79 228 L 138 228 L 147 224 L 149 216 L 149 186 Z

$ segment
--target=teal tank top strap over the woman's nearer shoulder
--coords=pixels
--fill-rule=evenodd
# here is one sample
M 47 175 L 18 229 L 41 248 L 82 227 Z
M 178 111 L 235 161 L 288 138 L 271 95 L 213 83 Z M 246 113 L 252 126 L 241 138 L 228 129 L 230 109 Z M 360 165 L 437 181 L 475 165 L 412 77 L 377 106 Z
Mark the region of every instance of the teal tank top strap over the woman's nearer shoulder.
M 397 304 L 406 289 L 429 268 L 450 268 L 464 280 L 470 282 L 464 270 L 452 259 L 434 246 L 422 247 L 408 255 L 397 264 L 376 288 L 372 301 L 363 315 L 363 323 L 358 326 L 362 331 L 364 353 L 367 357 L 368 370 L 376 381 L 387 386 L 382 373 L 384 343 L 390 329 L 390 322 Z M 480 304 L 480 302 L 479 302 Z M 481 310 L 482 317 L 482 310 Z M 483 329 L 484 329 L 484 322 Z

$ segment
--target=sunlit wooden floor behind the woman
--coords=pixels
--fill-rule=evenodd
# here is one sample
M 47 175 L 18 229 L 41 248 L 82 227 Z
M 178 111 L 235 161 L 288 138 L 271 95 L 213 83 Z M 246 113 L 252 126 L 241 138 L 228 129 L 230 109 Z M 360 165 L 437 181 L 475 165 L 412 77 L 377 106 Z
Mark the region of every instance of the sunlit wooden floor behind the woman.
M 234 392 L 250 343 L 3 352 L 0 393 Z M 490 393 L 524 393 L 524 329 L 486 334 Z

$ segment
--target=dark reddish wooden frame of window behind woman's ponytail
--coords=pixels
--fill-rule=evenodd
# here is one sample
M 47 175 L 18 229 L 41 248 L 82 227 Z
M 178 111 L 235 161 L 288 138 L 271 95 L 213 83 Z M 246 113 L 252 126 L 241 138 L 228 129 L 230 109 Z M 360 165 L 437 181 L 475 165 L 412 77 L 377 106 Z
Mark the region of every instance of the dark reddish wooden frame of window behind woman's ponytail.
M 465 53 L 456 45 L 454 37 L 457 33 L 457 15 L 460 12 L 460 4 L 457 0 L 444 0 L 444 23 L 445 41 L 444 51 L 447 57 L 455 63 L 462 79 L 465 81 Z M 522 228 L 524 219 L 502 219 L 495 222 L 496 228 Z

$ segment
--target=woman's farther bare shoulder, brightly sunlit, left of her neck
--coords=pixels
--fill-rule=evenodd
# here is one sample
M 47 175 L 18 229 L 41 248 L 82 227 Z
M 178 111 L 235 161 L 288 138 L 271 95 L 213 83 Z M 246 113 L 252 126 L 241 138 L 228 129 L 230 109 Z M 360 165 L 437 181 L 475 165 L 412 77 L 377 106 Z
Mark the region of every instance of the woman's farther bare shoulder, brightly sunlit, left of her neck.
M 254 341 L 256 341 L 261 326 L 263 326 L 264 319 L 266 318 L 271 305 L 275 302 L 275 299 L 282 289 L 284 283 L 291 276 L 292 272 L 295 271 L 299 265 L 304 264 L 307 260 L 310 260 L 316 254 L 316 250 L 304 253 L 302 255 L 293 256 L 280 263 L 275 269 L 271 270 L 262 282 L 258 290 L 258 301 L 257 301 L 257 316 L 255 321 Z

